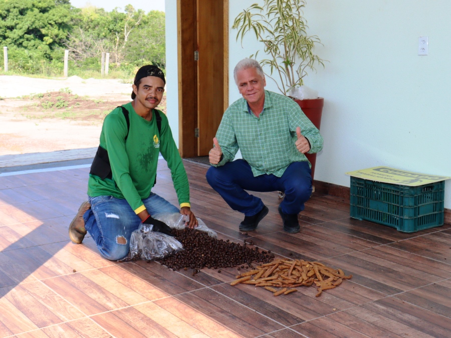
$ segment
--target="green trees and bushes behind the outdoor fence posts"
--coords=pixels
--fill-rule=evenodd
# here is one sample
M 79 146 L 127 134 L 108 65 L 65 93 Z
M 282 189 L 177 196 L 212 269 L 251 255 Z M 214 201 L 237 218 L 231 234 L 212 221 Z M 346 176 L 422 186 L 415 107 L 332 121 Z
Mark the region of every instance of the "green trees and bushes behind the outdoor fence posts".
M 110 53 L 109 77 L 131 79 L 137 68 L 165 68 L 164 13 L 134 9 L 107 12 L 74 8 L 69 0 L 0 0 L 0 55 L 8 47 L 8 74 L 101 76 L 101 55 Z M 3 62 L 0 73 L 3 73 Z

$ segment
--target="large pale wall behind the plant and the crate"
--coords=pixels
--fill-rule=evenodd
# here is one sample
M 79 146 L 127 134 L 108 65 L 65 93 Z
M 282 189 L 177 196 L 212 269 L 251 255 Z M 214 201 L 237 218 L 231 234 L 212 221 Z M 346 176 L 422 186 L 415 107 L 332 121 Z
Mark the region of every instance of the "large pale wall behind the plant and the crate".
M 230 25 L 255 2 L 230 0 Z M 449 13 L 449 0 L 307 1 L 309 34 L 321 39 L 317 54 L 329 61 L 305 81 L 325 99 L 315 179 L 349 186 L 345 172 L 378 165 L 451 176 Z M 417 55 L 420 36 L 429 37 L 428 56 Z M 231 31 L 231 102 L 240 97 L 233 68 L 260 48 L 251 35 L 245 48 L 235 39 Z

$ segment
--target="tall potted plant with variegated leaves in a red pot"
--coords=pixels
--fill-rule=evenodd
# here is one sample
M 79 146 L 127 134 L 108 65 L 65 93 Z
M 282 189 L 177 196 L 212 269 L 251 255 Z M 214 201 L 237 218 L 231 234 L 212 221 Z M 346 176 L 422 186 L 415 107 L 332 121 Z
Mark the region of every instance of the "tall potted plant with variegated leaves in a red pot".
M 269 74 L 265 74 L 276 82 L 279 90 L 290 96 L 295 88 L 304 85 L 307 70 L 315 70 L 318 65 L 324 67 L 324 61 L 314 54 L 315 44 L 321 44 L 321 41 L 317 36 L 307 35 L 307 21 L 303 17 L 305 0 L 264 0 L 263 3 L 263 6 L 253 4 L 243 10 L 235 18 L 232 29 L 238 30 L 237 41 L 241 38 L 243 43 L 245 35 L 252 32 L 264 44 L 267 58 L 260 64 L 264 69 L 269 68 Z M 319 129 L 324 99 L 295 101 Z M 306 156 L 312 164 L 313 179 L 316 154 Z

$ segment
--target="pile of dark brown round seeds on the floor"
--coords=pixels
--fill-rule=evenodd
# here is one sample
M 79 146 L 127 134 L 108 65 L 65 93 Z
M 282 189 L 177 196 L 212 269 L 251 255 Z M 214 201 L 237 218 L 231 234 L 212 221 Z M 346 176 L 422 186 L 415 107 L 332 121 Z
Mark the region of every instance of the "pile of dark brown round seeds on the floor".
M 241 266 L 241 268 L 250 268 L 252 262 L 267 263 L 274 258 L 271 251 L 259 250 L 258 247 L 251 248 L 247 246 L 246 242 L 239 244 L 230 242 L 229 239 L 224 241 L 209 237 L 204 231 L 184 228 L 183 230 L 172 230 L 172 233 L 183 244 L 184 250 L 165 257 L 160 262 L 173 270 L 191 268 L 194 273 L 197 273 L 203 267 L 216 269 Z

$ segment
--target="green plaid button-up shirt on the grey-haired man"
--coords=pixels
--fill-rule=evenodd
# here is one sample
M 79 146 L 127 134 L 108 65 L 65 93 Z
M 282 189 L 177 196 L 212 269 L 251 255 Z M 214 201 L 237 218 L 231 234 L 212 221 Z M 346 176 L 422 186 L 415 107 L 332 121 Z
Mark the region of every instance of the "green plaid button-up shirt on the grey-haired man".
M 323 148 L 319 130 L 299 105 L 285 95 L 265 91 L 265 106 L 256 117 L 244 98 L 235 101 L 222 116 L 216 132 L 223 158 L 215 166 L 233 161 L 238 149 L 252 168 L 254 176 L 274 174 L 281 177 L 293 162 L 307 161 L 296 149 L 296 128 L 311 145 L 309 154 Z

